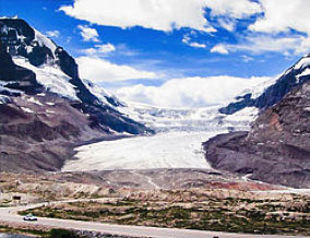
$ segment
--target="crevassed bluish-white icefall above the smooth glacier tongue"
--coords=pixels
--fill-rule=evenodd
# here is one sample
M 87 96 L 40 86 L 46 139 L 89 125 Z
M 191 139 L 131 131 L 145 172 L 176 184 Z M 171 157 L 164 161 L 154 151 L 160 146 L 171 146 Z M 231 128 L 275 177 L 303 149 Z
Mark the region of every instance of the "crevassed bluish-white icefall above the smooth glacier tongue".
M 157 133 L 247 130 L 253 121 L 253 115 L 257 115 L 253 110 L 243 110 L 234 116 L 220 115 L 218 106 L 169 108 L 140 103 L 126 103 L 118 109 Z

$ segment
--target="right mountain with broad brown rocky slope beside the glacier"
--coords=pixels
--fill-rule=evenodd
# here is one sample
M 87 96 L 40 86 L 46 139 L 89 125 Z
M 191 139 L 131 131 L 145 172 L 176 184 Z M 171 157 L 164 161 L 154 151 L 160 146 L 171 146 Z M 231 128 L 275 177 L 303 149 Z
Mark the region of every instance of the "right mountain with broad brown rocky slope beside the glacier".
M 310 188 L 309 69 L 307 56 L 252 100 L 262 109 L 250 131 L 220 134 L 203 144 L 214 168 L 264 182 Z M 230 105 L 231 111 L 238 108 L 235 106 Z

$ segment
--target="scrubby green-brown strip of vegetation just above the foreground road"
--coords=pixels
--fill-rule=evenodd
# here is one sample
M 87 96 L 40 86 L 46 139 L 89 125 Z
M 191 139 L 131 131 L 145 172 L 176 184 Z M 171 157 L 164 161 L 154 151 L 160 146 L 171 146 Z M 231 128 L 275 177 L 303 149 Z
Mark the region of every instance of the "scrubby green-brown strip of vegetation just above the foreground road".
M 194 203 L 121 200 L 76 202 L 26 211 L 36 216 L 122 225 L 251 234 L 310 235 L 310 201 L 214 199 Z M 56 237 L 63 238 L 63 237 Z

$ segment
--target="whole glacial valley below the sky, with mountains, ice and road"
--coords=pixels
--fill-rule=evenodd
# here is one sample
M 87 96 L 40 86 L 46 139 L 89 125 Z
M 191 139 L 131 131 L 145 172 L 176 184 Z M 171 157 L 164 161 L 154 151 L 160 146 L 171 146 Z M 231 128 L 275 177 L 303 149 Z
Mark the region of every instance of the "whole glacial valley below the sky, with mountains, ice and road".
M 310 55 L 235 98 L 174 108 L 82 79 L 24 20 L 0 19 L 0 43 L 3 230 L 310 236 Z

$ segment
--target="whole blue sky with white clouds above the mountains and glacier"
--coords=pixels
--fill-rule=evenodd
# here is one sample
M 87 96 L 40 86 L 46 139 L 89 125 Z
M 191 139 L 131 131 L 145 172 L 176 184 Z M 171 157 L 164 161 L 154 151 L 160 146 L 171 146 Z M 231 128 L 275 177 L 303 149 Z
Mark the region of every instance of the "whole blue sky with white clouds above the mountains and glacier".
M 229 102 L 310 50 L 309 0 L 0 0 L 64 47 L 81 78 L 167 107 Z

